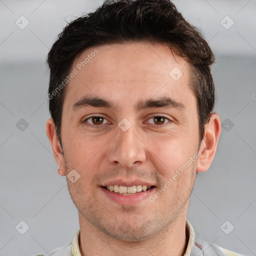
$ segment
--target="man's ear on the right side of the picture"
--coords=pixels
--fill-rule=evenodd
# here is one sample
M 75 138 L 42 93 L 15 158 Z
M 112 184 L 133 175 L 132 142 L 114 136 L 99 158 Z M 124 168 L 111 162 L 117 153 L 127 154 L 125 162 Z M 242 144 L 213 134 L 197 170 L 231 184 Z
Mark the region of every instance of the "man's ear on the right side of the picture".
M 220 131 L 220 118 L 217 113 L 212 113 L 209 122 L 205 124 L 204 137 L 199 149 L 201 154 L 197 158 L 197 171 L 203 172 L 210 167 L 217 148 Z

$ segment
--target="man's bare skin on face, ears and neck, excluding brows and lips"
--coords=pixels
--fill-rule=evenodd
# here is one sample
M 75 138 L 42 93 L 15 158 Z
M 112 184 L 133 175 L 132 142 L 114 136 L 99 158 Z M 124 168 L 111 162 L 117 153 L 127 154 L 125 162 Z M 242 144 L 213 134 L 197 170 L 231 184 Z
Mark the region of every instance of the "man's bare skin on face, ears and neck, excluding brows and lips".
M 78 209 L 81 254 L 183 255 L 196 170 L 206 171 L 213 160 L 220 118 L 211 114 L 204 138 L 198 143 L 196 98 L 187 85 L 189 64 L 166 45 L 129 42 L 96 48 L 96 56 L 66 87 L 61 124 L 63 154 L 52 119 L 46 124 L 58 173 L 67 175 L 75 169 L 80 175 L 75 182 L 66 180 Z M 72 68 L 93 50 L 83 51 Z M 169 75 L 174 67 L 182 71 L 178 80 Z M 72 105 L 87 94 L 111 100 L 116 108 L 89 106 L 73 111 Z M 164 95 L 182 102 L 185 110 L 157 107 L 136 112 L 133 108 L 138 100 Z M 104 119 L 87 119 L 92 126 L 86 126 L 84 121 L 90 114 Z M 154 120 L 156 114 L 169 120 Z M 126 131 L 118 126 L 123 118 L 131 123 Z M 100 124 L 103 126 L 97 128 Z M 153 202 L 145 199 L 123 205 L 101 191 L 105 181 L 125 177 L 151 182 L 156 186 L 154 194 L 198 148 L 201 154 L 197 160 Z

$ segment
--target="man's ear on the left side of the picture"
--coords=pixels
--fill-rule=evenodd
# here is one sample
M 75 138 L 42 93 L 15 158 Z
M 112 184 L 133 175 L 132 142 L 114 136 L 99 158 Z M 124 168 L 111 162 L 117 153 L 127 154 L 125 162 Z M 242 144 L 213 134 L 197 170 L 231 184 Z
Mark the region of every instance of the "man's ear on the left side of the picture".
M 53 156 L 58 165 L 58 174 L 61 176 L 64 176 L 65 175 L 64 157 L 62 155 L 62 149 L 61 149 L 59 140 L 57 138 L 55 124 L 52 118 L 49 118 L 46 122 L 46 134 L 51 144 Z

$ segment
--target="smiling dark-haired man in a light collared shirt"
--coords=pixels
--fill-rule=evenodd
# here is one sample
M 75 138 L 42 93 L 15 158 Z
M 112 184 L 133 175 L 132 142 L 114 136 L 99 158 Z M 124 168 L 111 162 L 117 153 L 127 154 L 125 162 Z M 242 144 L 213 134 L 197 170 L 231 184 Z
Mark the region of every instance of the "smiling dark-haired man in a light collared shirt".
M 238 255 L 186 219 L 215 154 L 213 53 L 169 0 L 105 1 L 48 53 L 46 132 L 80 229 L 57 255 Z

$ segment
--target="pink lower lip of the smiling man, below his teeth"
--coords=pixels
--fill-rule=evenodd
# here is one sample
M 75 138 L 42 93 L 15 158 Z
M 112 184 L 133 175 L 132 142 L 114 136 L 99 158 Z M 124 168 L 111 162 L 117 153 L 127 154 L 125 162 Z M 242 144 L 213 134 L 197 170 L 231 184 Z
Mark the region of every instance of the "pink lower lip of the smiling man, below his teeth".
M 155 186 L 151 187 L 146 191 L 138 192 L 136 194 L 131 195 L 117 194 L 115 192 L 103 188 L 102 186 L 100 188 L 111 200 L 120 204 L 131 205 L 147 199 L 149 197 L 149 194 L 155 188 Z

